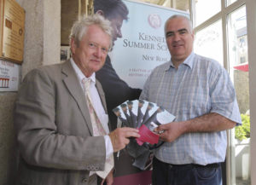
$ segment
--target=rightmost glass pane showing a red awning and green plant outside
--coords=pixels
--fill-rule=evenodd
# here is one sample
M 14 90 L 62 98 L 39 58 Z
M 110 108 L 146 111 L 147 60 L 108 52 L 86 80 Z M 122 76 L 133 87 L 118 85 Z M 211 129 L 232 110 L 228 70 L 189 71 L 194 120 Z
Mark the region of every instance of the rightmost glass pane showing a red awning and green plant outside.
M 231 132 L 232 184 L 250 184 L 250 113 L 247 57 L 246 7 L 236 9 L 228 16 L 230 78 L 234 81 L 241 112 L 242 125 Z M 233 133 L 233 134 L 232 134 Z

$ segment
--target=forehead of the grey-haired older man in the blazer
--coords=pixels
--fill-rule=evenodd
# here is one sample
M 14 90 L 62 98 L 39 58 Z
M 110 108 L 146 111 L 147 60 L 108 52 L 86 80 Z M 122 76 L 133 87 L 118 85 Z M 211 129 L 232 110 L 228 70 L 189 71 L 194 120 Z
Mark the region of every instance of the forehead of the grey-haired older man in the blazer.
M 92 25 L 88 27 L 81 42 L 92 42 L 109 47 L 111 40 L 108 33 L 104 32 L 100 26 Z

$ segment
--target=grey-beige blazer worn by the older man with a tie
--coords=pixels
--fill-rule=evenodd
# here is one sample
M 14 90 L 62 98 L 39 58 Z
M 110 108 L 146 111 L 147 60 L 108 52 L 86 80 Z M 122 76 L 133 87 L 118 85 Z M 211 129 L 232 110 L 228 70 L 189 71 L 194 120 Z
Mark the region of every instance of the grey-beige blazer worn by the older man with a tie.
M 106 111 L 98 81 L 96 88 Z M 14 119 L 20 149 L 17 184 L 87 184 L 89 171 L 104 169 L 104 138 L 92 137 L 84 91 L 70 61 L 26 75 Z

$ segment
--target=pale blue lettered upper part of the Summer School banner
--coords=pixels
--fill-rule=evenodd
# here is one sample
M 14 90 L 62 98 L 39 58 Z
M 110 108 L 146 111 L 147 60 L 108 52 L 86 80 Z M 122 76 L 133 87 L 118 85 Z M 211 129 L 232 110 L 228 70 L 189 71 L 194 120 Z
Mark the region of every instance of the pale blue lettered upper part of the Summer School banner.
M 119 77 L 133 88 L 143 89 L 143 84 L 155 66 L 170 61 L 164 27 L 172 14 L 188 13 L 166 9 L 149 3 L 123 0 L 129 9 L 129 20 L 121 28 L 112 52 L 113 68 Z M 143 12 L 143 14 L 142 14 Z

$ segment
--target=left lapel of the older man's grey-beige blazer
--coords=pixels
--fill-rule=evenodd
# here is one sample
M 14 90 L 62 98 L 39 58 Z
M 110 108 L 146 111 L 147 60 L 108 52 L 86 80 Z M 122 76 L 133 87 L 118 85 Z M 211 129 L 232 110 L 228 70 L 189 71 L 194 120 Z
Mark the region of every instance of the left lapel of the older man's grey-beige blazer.
M 61 72 L 63 73 L 63 82 L 64 84 L 66 84 L 67 90 L 73 96 L 73 99 L 77 102 L 79 110 L 81 111 L 84 117 L 84 122 L 90 130 L 91 136 L 93 136 L 93 130 L 90 121 L 90 113 L 87 107 L 87 103 L 85 101 L 84 91 L 82 90 L 81 85 L 79 84 L 79 79 L 77 78 L 70 61 L 66 61 L 62 65 Z

